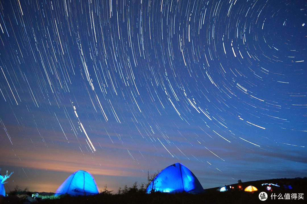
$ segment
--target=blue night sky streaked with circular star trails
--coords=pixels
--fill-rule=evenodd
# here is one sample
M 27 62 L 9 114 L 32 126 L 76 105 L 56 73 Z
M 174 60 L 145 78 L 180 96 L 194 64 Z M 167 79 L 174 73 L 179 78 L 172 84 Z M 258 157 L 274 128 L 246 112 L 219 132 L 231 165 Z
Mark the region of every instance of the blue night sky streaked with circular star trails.
M 0 1 L 6 191 L 305 177 L 307 3 Z M 306 25 L 305 25 L 306 24 Z

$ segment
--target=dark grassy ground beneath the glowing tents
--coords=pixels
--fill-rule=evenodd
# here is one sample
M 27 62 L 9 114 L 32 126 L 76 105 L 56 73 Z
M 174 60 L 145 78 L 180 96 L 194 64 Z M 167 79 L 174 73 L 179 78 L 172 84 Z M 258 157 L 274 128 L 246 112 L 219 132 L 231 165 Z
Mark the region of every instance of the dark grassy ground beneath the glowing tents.
M 268 185 L 261 185 L 262 183 L 273 183 L 278 184 L 280 187 L 272 186 L 272 191 L 268 191 L 266 187 Z M 252 185 L 255 186 L 258 191 L 255 192 L 245 192 L 244 188 Z M 285 185 L 285 186 L 284 186 Z M 307 203 L 307 178 L 295 178 L 295 179 L 270 179 L 270 180 L 258 180 L 249 181 L 243 183 L 236 183 L 230 185 L 234 187 L 227 192 L 216 191 L 217 188 L 205 189 L 204 194 L 166 194 L 166 193 L 153 193 L 145 194 L 140 191 L 130 191 L 124 194 L 106 194 L 101 193 L 93 196 L 78 196 L 70 197 L 69 195 L 63 196 L 60 199 L 39 199 L 32 200 L 30 202 L 26 198 L 18 198 L 17 195 L 10 195 L 6 198 L 0 198 L 0 204 L 8 203 L 41 203 L 41 204 L 84 204 L 84 203 L 102 203 L 102 204 L 114 204 L 114 203 L 178 203 L 178 204 L 189 204 L 189 203 Z M 241 186 L 241 188 L 239 188 Z M 292 189 L 289 189 L 289 186 Z M 259 194 L 261 192 L 266 192 L 268 198 L 266 201 L 261 201 L 259 199 Z M 32 194 L 29 193 L 28 194 Z M 289 199 L 285 199 L 286 194 L 289 195 Z M 300 195 L 299 195 L 300 194 Z M 271 197 L 273 195 L 273 197 Z M 274 199 L 274 195 L 276 195 Z M 296 199 L 294 199 L 296 195 Z M 292 196 L 292 197 L 291 197 Z M 294 196 L 294 197 L 293 197 Z M 20 197 L 20 196 L 19 196 Z M 302 197 L 299 199 L 299 197 Z M 283 198 L 283 199 L 278 199 Z

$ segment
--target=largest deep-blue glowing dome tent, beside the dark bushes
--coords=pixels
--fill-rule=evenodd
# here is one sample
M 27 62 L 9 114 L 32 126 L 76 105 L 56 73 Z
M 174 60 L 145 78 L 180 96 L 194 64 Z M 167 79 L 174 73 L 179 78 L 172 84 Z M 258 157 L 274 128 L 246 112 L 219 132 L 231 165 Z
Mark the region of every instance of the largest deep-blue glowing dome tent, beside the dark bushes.
M 153 191 L 167 193 L 202 193 L 203 187 L 196 176 L 181 163 L 170 165 L 163 169 L 147 187 L 146 192 Z

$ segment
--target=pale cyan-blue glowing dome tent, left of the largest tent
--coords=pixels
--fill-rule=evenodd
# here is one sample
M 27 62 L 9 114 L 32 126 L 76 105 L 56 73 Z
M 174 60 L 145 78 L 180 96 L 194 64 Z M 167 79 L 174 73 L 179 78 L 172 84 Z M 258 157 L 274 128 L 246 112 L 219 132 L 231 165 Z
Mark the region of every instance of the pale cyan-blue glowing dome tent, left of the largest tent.
M 56 190 L 55 196 L 69 194 L 78 195 L 95 195 L 98 194 L 98 187 L 93 176 L 83 170 L 74 172 L 60 185 Z

